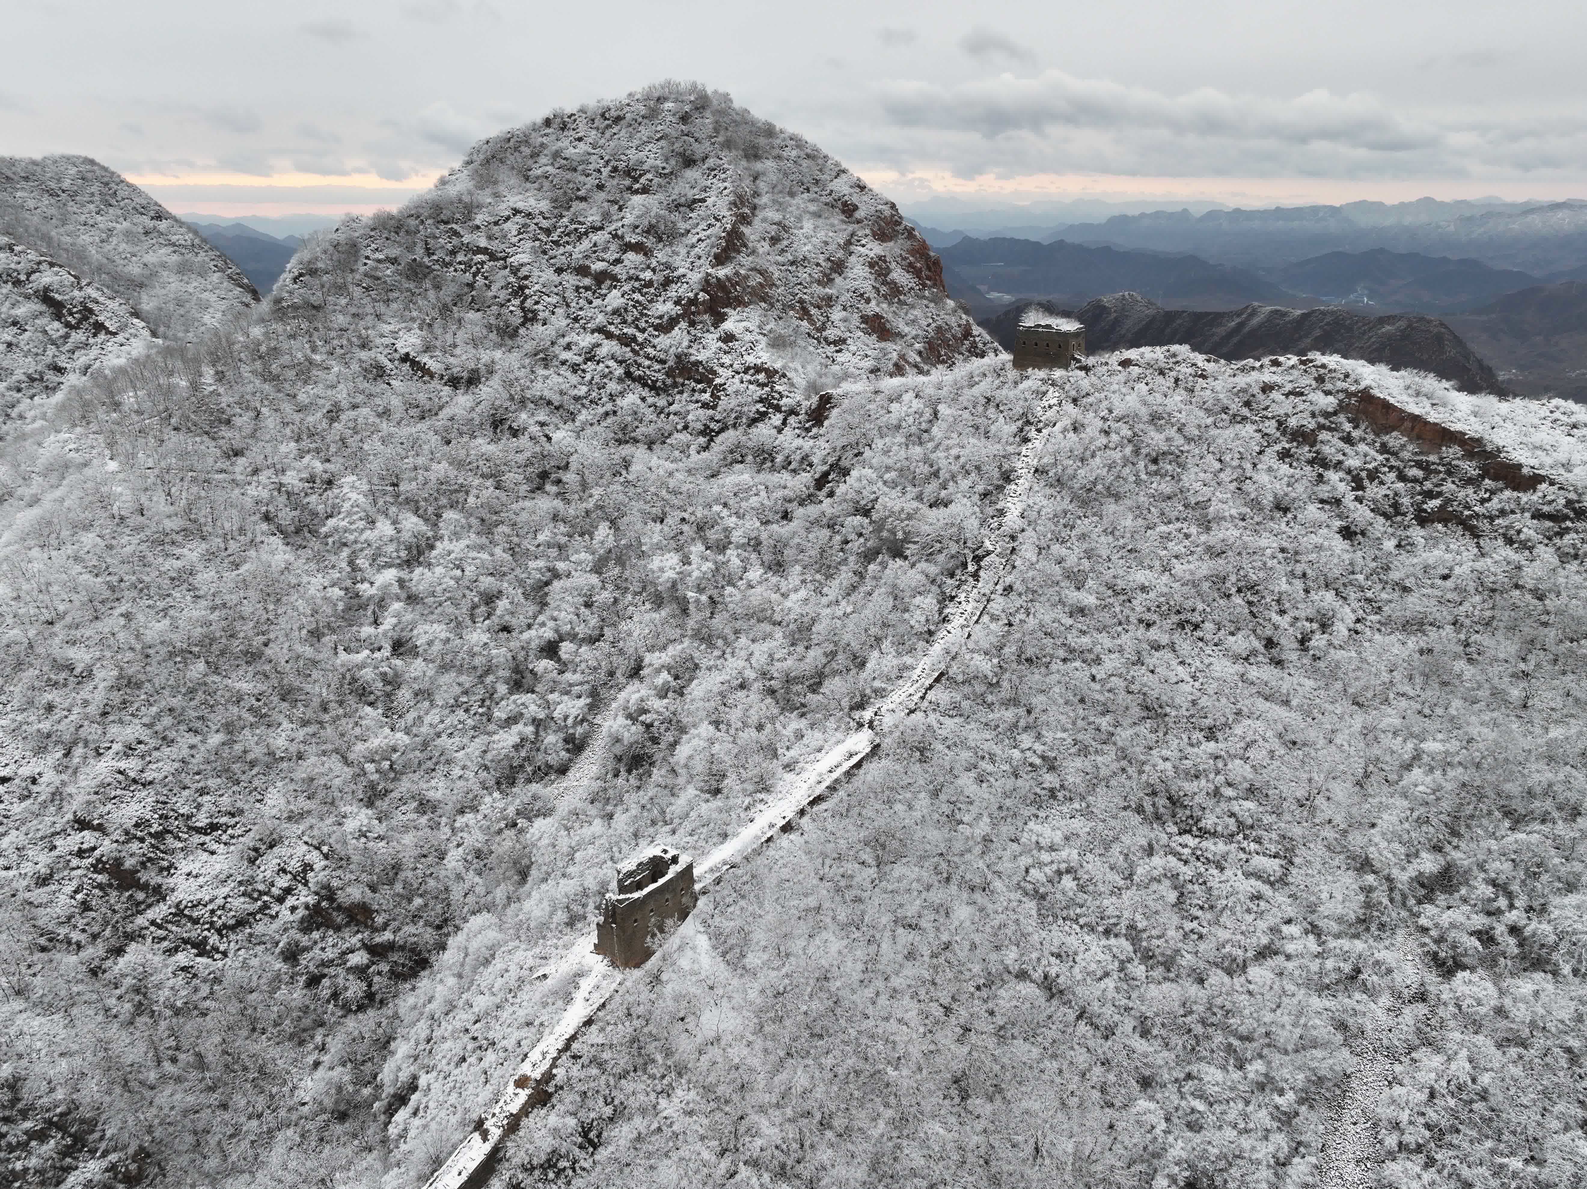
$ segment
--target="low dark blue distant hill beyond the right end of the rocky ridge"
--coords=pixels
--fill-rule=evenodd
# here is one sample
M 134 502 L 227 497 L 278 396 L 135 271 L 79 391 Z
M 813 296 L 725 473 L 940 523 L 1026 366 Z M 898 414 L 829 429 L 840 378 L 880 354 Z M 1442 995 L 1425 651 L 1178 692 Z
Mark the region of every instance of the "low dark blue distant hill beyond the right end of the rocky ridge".
M 1454 310 L 1536 284 L 1514 268 L 1489 268 L 1481 260 L 1454 260 L 1420 252 L 1328 252 L 1276 270 L 1287 289 L 1328 302 L 1378 305 L 1385 310 Z

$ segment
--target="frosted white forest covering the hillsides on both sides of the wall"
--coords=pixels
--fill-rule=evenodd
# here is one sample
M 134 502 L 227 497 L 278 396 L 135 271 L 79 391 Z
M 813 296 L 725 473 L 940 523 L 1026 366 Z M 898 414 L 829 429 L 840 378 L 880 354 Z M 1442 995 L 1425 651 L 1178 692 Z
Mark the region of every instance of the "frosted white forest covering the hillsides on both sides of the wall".
M 1550 479 L 1379 437 L 1370 389 Z M 1051 398 L 1049 398 L 1051 397 Z M 1047 413 L 1043 413 L 1043 410 Z M 494 1184 L 1573 1186 L 1582 427 L 1357 364 L 1016 375 L 890 203 L 660 87 L 482 143 L 0 454 L 0 1160 L 422 1184 L 613 865 L 941 622 Z M 595 779 L 570 784 L 595 749 Z

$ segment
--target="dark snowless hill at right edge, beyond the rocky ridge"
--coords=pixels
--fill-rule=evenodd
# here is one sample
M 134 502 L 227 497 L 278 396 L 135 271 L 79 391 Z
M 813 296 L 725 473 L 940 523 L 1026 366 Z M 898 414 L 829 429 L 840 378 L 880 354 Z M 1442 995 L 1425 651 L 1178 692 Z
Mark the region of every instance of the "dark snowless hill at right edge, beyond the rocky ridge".
M 1517 392 L 1587 402 L 1587 283 L 1522 289 L 1449 324 Z

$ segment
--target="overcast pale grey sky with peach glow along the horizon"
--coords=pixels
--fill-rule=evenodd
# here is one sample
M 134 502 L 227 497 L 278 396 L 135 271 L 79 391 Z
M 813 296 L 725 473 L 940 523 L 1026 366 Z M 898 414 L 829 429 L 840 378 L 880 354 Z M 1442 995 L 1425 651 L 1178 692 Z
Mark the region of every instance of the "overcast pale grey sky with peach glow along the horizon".
M 86 152 L 176 210 L 400 200 L 479 137 L 662 78 L 906 203 L 1587 197 L 1565 0 L 6 0 L 3 27 L 0 154 Z

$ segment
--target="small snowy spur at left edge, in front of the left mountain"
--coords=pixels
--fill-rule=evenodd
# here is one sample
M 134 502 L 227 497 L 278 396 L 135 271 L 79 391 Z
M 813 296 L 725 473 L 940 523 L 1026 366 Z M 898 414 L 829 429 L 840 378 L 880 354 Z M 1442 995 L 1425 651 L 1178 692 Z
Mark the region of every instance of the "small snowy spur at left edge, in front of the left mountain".
M 0 235 L 0 417 L 149 341 L 125 302 Z

